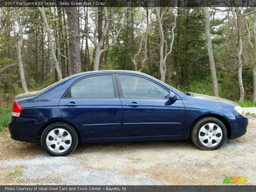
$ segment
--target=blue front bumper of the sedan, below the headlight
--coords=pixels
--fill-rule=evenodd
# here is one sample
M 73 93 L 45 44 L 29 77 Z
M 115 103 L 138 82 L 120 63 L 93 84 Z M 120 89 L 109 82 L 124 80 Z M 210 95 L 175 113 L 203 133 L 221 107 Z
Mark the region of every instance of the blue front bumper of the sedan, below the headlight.
M 231 138 L 235 139 L 243 136 L 247 131 L 248 118 L 246 116 L 228 117 L 231 130 Z

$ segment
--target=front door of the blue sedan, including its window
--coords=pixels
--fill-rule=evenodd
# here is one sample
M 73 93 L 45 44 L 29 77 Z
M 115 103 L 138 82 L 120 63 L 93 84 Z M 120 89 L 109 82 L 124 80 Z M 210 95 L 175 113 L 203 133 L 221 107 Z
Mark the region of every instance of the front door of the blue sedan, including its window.
M 139 75 L 117 74 L 123 106 L 123 137 L 180 136 L 185 121 L 181 99 L 169 100 L 169 90 Z

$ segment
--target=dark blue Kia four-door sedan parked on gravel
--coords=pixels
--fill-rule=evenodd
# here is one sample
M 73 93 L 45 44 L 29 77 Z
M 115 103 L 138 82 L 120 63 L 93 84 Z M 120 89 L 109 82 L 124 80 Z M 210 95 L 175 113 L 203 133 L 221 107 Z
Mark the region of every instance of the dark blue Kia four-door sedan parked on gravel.
M 73 152 L 78 141 L 113 142 L 191 138 L 204 150 L 245 134 L 248 119 L 236 103 L 180 92 L 135 71 L 92 71 L 37 92 L 17 95 L 12 139 L 41 141 L 52 156 Z

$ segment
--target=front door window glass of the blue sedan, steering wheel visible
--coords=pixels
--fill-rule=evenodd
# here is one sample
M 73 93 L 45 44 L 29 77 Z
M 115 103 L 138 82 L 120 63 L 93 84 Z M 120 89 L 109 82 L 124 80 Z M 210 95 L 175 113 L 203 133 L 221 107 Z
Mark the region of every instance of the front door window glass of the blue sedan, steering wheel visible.
M 169 91 L 143 77 L 119 75 L 124 97 L 128 98 L 166 98 Z

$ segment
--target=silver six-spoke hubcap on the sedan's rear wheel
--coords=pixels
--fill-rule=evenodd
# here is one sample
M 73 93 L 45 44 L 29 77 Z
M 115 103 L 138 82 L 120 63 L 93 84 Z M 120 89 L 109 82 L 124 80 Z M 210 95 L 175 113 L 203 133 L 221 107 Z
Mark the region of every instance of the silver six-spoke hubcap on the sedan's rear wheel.
M 47 147 L 55 152 L 62 153 L 70 148 L 72 138 L 70 133 L 62 128 L 56 128 L 50 131 L 46 137 Z

